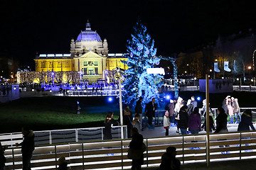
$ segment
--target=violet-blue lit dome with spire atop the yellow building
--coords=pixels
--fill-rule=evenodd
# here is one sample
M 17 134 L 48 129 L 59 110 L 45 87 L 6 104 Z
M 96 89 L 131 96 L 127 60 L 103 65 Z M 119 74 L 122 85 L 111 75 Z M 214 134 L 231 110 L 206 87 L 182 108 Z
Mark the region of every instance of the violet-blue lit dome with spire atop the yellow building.
M 80 41 L 99 41 L 102 42 L 100 39 L 100 35 L 97 34 L 96 31 L 91 30 L 90 23 L 87 21 L 86 23 L 86 30 L 81 31 L 78 35 L 76 42 Z

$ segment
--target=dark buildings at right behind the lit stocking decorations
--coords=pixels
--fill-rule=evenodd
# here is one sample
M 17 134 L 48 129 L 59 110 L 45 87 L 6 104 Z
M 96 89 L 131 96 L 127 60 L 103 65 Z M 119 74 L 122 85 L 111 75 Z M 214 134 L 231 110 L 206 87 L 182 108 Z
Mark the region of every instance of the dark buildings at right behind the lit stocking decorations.
M 178 54 L 178 77 L 204 79 L 206 73 L 213 79 L 244 77 L 246 73 L 250 74 L 247 67 L 253 69 L 255 55 L 256 37 L 251 29 L 246 33 L 218 36 L 213 45 Z

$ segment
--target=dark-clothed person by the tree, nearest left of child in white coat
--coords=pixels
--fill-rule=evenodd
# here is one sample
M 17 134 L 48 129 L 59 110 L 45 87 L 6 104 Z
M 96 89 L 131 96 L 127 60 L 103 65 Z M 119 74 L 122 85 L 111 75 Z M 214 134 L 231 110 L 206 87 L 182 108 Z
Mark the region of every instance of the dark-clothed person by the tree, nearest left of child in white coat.
M 152 120 L 155 117 L 155 112 L 157 108 L 157 104 L 155 102 L 156 102 L 156 99 L 152 98 L 152 101 L 147 103 L 145 108 L 145 113 L 146 113 L 146 116 L 148 117 L 149 129 L 154 129 L 154 125 L 152 125 Z

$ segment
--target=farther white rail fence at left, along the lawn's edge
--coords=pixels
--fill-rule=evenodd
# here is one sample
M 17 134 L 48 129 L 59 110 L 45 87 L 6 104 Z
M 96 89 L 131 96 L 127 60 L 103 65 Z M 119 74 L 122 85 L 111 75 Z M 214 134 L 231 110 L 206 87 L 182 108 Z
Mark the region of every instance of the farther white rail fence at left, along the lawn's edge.
M 127 126 L 124 125 L 123 127 L 124 137 L 127 138 Z M 103 140 L 104 128 L 105 127 L 35 131 L 35 145 Z M 121 126 L 112 127 L 112 138 L 121 139 Z M 20 132 L 0 134 L 1 145 L 14 147 L 16 143 L 20 143 L 22 140 L 23 136 Z

